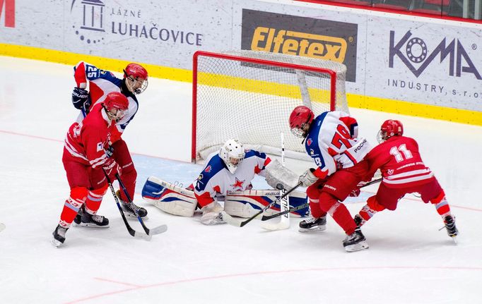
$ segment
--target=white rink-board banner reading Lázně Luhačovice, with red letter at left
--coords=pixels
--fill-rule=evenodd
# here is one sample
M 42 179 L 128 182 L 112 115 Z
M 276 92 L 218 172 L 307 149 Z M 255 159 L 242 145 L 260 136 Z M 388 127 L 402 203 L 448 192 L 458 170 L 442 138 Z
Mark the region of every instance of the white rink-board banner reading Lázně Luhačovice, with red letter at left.
M 15 20 L 15 28 L 0 26 L 0 43 L 185 69 L 192 67 L 192 54 L 199 49 L 231 49 L 230 1 L 0 3 L 5 3 L 4 11 L 7 8 L 5 22 L 11 25 Z M 15 4 L 13 17 L 8 11 L 11 4 Z

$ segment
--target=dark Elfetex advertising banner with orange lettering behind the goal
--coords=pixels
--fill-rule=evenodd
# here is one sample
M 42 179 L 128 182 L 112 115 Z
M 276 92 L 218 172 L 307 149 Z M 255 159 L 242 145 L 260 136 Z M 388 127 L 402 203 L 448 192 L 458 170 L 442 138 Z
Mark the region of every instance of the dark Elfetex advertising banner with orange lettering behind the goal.
M 266 11 L 242 10 L 241 49 L 344 63 L 356 81 L 358 25 Z

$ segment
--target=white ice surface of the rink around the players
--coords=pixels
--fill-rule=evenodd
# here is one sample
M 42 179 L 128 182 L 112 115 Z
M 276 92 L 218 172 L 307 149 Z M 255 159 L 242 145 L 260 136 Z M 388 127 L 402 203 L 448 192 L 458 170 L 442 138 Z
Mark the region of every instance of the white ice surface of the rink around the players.
M 147 226 L 167 224 L 167 232 L 132 238 L 107 192 L 99 214 L 110 228 L 72 227 L 54 248 L 69 195 L 63 140 L 78 115 L 73 69 L 0 56 L 0 72 L 0 303 L 482 302 L 481 127 L 351 109 L 373 145 L 382 121 L 404 123 L 445 188 L 460 234 L 455 245 L 439 231 L 435 208 L 407 195 L 363 226 L 370 249 L 346 253 L 331 218 L 312 234 L 298 232 L 300 219 L 284 231 L 264 231 L 259 220 L 204 226 L 199 215 L 175 217 L 143 202 L 148 176 L 187 185 L 201 170 L 189 162 L 191 84 L 150 78 L 124 139 L 139 173 L 135 202 L 148 209 Z M 295 171 L 310 165 L 287 162 Z M 347 202 L 352 215 L 376 189 Z

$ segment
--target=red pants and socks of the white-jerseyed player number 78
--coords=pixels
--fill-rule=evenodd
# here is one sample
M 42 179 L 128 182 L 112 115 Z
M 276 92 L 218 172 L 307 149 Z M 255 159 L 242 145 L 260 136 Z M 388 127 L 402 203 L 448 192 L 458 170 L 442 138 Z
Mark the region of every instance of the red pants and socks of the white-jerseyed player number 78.
M 359 162 L 350 168 L 339 169 L 327 180 L 319 180 L 307 188 L 313 217 L 323 217 L 327 213 L 350 235 L 356 229 L 355 221 L 343 203 L 358 183 L 368 173 L 368 163 Z

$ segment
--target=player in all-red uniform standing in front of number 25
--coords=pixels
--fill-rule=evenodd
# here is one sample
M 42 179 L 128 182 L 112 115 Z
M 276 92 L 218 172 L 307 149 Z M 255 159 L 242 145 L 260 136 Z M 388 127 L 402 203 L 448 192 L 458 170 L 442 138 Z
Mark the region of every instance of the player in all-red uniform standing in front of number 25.
M 93 107 L 81 123 L 73 123 L 66 135 L 62 162 L 69 181 L 70 197 L 65 201 L 52 243 L 64 243 L 65 233 L 78 209 L 85 203 L 82 226 L 108 227 L 109 220 L 96 214 L 107 191 L 107 174 L 114 181 L 121 167 L 110 157 L 109 146 L 115 123 L 127 113 L 129 102 L 119 92 L 110 92 Z

